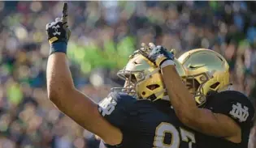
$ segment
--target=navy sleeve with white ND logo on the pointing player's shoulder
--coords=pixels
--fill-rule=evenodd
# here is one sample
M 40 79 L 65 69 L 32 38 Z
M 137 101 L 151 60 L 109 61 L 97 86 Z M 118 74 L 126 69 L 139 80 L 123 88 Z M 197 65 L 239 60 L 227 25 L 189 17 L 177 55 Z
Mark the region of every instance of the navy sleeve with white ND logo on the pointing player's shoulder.
M 98 104 L 100 114 L 119 129 L 124 127 L 135 99 L 130 95 L 111 92 Z

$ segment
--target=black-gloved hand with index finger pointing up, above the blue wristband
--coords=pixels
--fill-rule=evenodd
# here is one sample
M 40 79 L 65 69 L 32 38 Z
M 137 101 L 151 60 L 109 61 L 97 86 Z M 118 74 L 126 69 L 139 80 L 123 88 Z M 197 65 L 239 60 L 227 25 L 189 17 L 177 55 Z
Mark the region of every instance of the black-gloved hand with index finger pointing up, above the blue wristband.
M 62 18 L 56 18 L 54 22 L 46 24 L 46 32 L 49 44 L 64 42 L 67 44 L 71 34 L 67 26 L 67 3 L 63 6 Z

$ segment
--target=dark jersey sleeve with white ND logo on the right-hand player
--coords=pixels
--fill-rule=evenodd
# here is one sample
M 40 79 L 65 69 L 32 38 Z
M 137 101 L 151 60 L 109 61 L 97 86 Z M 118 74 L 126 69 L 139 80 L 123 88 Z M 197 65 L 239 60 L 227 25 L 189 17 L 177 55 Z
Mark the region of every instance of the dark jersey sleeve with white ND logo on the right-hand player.
M 215 113 L 222 113 L 232 118 L 241 127 L 252 125 L 254 118 L 254 107 L 249 99 L 240 92 L 225 92 L 223 101 Z

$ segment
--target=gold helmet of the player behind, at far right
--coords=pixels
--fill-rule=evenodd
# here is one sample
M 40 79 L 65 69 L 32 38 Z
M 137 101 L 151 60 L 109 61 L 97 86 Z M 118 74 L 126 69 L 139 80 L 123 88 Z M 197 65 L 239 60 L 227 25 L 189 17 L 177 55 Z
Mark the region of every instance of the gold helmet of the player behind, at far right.
M 230 86 L 228 62 L 210 49 L 193 49 L 179 58 L 186 76 L 182 76 L 198 106 L 206 102 L 210 91 L 223 91 Z

